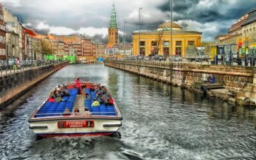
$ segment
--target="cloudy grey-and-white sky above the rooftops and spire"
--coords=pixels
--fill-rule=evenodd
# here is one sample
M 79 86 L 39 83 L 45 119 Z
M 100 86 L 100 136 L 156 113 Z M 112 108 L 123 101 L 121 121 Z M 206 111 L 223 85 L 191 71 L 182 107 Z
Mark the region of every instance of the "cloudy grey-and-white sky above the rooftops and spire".
M 108 35 L 113 0 L 0 0 L 22 23 L 38 33 L 70 35 L 79 33 L 102 38 Z M 170 20 L 170 0 L 114 0 L 120 40 L 127 21 L 126 35 L 138 30 L 155 29 Z M 184 29 L 200 31 L 202 40 L 227 33 L 228 27 L 244 13 L 256 8 L 256 0 L 173 0 L 173 20 Z

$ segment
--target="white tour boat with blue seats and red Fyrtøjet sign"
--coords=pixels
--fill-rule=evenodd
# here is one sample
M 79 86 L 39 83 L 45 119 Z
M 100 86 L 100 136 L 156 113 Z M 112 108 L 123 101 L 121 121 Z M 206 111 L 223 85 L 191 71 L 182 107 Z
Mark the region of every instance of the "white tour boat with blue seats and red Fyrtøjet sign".
M 65 101 L 49 102 L 49 99 L 46 99 L 30 116 L 29 128 L 35 134 L 42 137 L 110 136 L 118 131 L 123 118 L 115 100 L 113 105 L 100 104 L 92 107 L 96 96 L 92 88 L 100 84 L 81 83 L 81 94 L 78 94 L 79 89 L 75 83 L 66 86 L 69 96 L 63 97 Z M 86 100 L 84 92 L 90 95 L 92 100 Z M 70 110 L 68 114 L 64 113 L 67 108 Z M 74 113 L 74 108 L 79 108 L 79 113 Z M 84 108 L 89 109 L 89 114 L 84 114 Z

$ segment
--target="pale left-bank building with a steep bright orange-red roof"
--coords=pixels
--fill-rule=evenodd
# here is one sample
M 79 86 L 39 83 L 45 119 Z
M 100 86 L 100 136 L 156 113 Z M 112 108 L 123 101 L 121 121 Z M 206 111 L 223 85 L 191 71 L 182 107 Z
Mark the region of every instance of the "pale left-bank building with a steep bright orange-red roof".
M 29 60 L 42 60 L 44 57 L 42 55 L 42 43 L 41 36 L 35 31 L 29 28 L 24 28 L 26 32 L 26 41 L 28 45 L 28 57 Z

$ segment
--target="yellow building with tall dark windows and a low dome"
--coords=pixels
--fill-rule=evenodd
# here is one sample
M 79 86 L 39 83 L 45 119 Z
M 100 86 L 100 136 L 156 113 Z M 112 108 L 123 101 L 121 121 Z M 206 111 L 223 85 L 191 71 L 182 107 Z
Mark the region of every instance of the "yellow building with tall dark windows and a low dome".
M 201 35 L 202 33 L 197 31 L 184 31 L 177 23 L 164 22 L 157 27 L 156 31 L 132 33 L 133 55 L 140 54 L 148 56 L 159 54 L 164 56 L 186 56 L 187 47 L 200 47 Z M 139 41 L 140 49 L 138 47 Z M 170 45 L 171 41 L 172 45 Z

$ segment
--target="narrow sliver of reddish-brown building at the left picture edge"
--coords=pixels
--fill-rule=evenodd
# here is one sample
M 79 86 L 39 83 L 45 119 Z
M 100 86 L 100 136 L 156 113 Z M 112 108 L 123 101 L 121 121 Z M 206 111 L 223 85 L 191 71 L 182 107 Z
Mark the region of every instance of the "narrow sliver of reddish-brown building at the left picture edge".
M 6 27 L 4 24 L 3 5 L 0 3 L 0 60 L 6 60 Z

